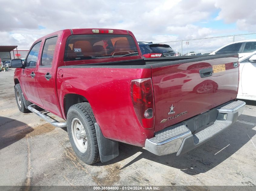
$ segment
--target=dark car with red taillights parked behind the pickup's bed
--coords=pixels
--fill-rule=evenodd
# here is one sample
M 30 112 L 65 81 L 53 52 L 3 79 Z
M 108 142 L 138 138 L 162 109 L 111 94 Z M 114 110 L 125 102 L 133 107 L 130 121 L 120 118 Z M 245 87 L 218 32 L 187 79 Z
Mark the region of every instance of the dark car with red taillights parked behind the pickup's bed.
M 176 56 L 175 51 L 168 44 L 157 44 L 152 42 L 138 42 L 141 53 L 145 58 Z

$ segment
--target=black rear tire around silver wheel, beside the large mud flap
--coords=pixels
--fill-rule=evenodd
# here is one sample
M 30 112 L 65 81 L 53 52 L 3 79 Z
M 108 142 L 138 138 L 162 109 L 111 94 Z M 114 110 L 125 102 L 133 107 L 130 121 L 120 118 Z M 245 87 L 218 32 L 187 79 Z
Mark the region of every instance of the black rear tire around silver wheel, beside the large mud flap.
M 73 119 L 79 119 L 82 123 L 87 136 L 87 150 L 83 153 L 78 150 L 75 140 L 72 136 L 71 122 Z M 94 124 L 96 123 L 91 106 L 89 103 L 77 103 L 68 109 L 67 131 L 72 148 L 78 158 L 86 164 L 94 164 L 100 161 L 98 141 Z

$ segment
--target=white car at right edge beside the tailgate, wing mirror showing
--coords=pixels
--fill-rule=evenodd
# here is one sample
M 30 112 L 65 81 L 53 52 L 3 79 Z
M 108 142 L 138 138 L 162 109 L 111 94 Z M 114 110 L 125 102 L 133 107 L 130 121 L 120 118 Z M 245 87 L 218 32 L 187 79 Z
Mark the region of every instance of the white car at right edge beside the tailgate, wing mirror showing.
M 238 99 L 256 101 L 256 51 L 239 62 Z

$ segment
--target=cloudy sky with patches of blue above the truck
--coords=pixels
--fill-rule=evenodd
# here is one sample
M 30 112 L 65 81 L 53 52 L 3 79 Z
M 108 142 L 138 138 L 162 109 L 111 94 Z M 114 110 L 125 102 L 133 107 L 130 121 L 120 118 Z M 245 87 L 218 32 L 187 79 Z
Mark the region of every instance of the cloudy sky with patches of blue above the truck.
M 256 32 L 255 0 L 0 0 L 0 45 L 29 49 L 66 28 L 131 30 L 166 42 Z

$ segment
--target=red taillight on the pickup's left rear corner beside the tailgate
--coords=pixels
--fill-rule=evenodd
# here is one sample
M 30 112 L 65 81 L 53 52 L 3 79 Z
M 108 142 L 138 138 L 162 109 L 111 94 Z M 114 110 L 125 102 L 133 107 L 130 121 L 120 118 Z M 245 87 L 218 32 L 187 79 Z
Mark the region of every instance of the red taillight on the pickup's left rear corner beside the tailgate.
M 131 101 L 141 126 L 153 128 L 154 98 L 151 78 L 131 81 Z

